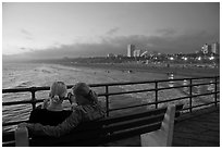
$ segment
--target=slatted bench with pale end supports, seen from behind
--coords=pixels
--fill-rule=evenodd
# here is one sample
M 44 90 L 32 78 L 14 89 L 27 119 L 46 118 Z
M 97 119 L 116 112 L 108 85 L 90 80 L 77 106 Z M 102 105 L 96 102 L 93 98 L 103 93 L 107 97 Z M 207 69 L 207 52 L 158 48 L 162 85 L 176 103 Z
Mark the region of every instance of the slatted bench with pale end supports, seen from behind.
M 168 147 L 172 145 L 174 117 L 183 104 L 169 105 L 143 113 L 107 117 L 88 122 L 70 134 L 55 137 L 30 137 L 26 127 L 15 131 L 15 146 L 99 146 L 140 135 L 141 146 Z

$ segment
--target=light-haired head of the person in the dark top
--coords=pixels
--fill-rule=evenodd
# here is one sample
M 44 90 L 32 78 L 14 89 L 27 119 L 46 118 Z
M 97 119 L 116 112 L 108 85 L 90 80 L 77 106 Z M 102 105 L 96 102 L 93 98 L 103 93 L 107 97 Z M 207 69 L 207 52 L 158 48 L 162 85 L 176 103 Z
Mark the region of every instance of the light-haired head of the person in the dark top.
M 62 103 L 67 92 L 66 85 L 63 82 L 54 82 L 50 87 L 49 97 L 52 103 Z

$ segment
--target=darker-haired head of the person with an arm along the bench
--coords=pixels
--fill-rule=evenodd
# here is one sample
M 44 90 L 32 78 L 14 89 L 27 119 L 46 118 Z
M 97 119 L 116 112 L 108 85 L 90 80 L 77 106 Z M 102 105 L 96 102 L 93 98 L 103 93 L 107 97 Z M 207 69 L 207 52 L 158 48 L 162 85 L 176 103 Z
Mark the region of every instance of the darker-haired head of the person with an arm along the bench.
M 98 102 L 97 95 L 85 83 L 77 83 L 72 88 L 77 104 L 96 104 Z

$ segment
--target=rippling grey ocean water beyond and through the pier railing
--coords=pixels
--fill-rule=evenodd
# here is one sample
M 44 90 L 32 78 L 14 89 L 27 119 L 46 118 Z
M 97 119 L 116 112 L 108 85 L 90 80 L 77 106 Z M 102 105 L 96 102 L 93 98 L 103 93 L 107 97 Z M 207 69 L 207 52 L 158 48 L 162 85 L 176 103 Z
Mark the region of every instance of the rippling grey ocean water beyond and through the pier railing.
M 172 76 L 171 76 L 172 77 Z M 174 76 L 182 78 L 183 76 Z M 102 84 L 102 83 L 120 83 L 120 82 L 138 82 L 138 80 L 153 80 L 166 79 L 169 75 L 148 73 L 148 72 L 133 72 L 109 69 L 90 69 L 90 67 L 74 67 L 59 64 L 46 63 L 3 63 L 2 64 L 2 88 L 24 88 L 24 87 L 41 87 L 50 86 L 55 80 L 64 82 L 66 85 L 74 85 L 77 82 L 85 82 L 87 84 Z M 187 84 L 182 82 L 181 84 Z M 161 84 L 160 86 L 174 86 L 171 84 Z M 149 85 L 128 85 L 118 86 L 111 88 L 112 91 L 130 91 L 135 89 L 153 88 L 153 84 Z M 94 88 L 96 92 L 102 94 L 104 89 Z M 186 95 L 178 89 L 171 89 L 160 91 L 159 100 L 166 100 L 170 98 L 182 97 Z M 49 91 L 38 91 L 37 99 L 48 98 Z M 123 99 L 127 100 L 123 100 Z M 2 101 L 20 101 L 30 99 L 29 92 L 3 94 Z M 124 96 L 110 97 L 110 108 L 118 108 L 131 104 L 138 104 L 138 102 L 153 101 L 153 92 L 131 94 Z M 100 98 L 101 103 L 104 103 L 104 98 Z M 64 103 L 67 108 L 67 102 Z M 30 104 L 9 105 L 2 107 L 2 123 L 13 122 L 17 120 L 27 120 L 32 111 Z M 128 111 L 127 111 L 128 112 Z M 3 127 L 4 131 L 13 129 L 14 127 Z

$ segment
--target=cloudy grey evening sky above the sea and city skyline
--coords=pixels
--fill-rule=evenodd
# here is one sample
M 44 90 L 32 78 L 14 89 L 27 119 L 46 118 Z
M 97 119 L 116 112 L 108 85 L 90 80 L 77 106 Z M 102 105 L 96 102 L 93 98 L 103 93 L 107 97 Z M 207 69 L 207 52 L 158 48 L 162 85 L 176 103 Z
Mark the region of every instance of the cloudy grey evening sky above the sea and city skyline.
M 188 53 L 220 42 L 219 2 L 3 2 L 2 54 Z

